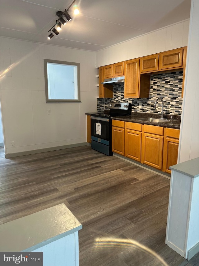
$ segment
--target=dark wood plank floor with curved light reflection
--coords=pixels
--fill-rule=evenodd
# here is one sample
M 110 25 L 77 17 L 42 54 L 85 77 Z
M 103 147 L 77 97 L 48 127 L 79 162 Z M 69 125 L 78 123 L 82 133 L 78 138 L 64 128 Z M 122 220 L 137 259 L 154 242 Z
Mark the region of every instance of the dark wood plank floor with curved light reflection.
M 164 243 L 169 179 L 87 146 L 10 159 L 2 152 L 0 224 L 64 203 L 83 225 L 80 266 L 172 266 L 182 259 Z

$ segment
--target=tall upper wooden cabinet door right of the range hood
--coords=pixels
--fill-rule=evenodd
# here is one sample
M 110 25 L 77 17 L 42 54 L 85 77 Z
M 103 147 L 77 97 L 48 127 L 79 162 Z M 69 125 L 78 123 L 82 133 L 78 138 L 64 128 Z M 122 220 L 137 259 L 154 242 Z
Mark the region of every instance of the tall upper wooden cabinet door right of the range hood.
M 139 59 L 128 60 L 124 63 L 124 97 L 139 97 Z

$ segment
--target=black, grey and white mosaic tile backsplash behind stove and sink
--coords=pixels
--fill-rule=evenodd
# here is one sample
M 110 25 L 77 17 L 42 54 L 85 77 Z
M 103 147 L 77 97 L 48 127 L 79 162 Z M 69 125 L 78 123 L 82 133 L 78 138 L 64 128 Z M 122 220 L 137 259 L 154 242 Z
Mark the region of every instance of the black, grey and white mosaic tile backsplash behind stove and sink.
M 128 102 L 132 104 L 132 112 L 159 113 L 162 103 L 158 101 L 156 110 L 153 110 L 155 100 L 160 97 L 164 101 L 164 114 L 182 113 L 182 84 L 183 71 L 159 73 L 150 76 L 149 98 L 124 98 L 124 85 L 113 85 L 113 99 L 97 99 L 97 111 L 108 109 L 109 102 Z M 141 108 L 139 108 L 141 103 Z

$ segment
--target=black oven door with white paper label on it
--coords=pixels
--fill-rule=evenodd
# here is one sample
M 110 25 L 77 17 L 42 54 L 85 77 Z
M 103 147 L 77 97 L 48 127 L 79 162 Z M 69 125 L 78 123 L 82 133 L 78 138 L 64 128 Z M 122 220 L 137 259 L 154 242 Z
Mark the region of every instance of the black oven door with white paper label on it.
M 109 118 L 91 116 L 91 140 L 109 145 Z

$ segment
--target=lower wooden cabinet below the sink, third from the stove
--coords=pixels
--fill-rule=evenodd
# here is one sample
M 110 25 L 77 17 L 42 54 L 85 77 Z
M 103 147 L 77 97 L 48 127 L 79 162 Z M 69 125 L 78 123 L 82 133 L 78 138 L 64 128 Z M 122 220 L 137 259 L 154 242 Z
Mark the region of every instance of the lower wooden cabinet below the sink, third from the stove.
M 163 127 L 143 125 L 141 163 L 162 170 Z

